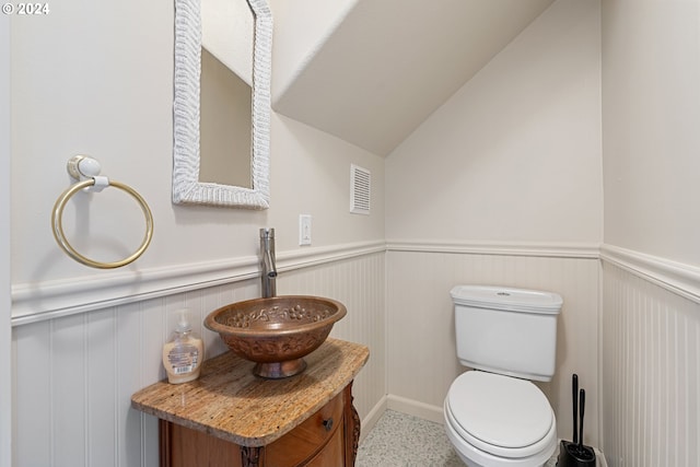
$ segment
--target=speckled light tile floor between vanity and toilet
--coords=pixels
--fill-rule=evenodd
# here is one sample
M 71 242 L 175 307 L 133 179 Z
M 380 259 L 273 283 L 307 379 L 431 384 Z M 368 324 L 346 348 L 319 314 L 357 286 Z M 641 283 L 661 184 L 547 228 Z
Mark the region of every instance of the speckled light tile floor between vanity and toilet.
M 552 458 L 547 467 L 557 465 Z M 358 450 L 357 467 L 464 467 L 445 428 L 386 410 Z

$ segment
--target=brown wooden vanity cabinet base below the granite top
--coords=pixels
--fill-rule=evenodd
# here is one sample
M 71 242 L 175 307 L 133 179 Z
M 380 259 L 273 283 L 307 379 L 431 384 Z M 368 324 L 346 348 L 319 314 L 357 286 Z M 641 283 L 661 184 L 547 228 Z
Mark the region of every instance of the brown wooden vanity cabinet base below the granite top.
M 265 446 L 241 446 L 160 420 L 161 467 L 353 466 L 359 437 L 350 383 L 317 412 Z

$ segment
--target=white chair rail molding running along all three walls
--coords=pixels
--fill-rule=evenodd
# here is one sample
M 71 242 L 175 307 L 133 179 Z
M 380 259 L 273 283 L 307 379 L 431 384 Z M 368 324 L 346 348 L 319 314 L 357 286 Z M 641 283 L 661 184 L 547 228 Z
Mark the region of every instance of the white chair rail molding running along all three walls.
M 380 252 L 598 259 L 700 303 L 699 267 L 597 243 L 369 241 L 281 252 L 277 265 L 283 272 Z M 114 271 L 100 277 L 13 284 L 11 322 L 12 326 L 20 326 L 244 281 L 259 277 L 259 269 L 258 257 L 246 256 L 143 271 Z

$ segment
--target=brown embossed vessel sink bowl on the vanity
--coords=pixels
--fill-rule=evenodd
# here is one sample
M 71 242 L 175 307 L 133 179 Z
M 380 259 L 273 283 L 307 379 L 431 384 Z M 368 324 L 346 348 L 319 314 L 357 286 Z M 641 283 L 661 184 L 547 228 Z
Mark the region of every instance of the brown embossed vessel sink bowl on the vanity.
M 326 340 L 346 313 L 335 300 L 280 295 L 222 306 L 207 316 L 205 326 L 238 357 L 256 362 L 253 373 L 282 378 L 306 369 L 303 357 Z

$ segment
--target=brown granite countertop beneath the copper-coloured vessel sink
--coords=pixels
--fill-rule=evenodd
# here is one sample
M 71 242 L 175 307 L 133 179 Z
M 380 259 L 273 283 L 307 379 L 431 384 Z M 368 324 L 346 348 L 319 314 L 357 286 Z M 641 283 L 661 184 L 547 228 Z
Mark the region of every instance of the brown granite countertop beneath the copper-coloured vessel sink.
M 337 396 L 369 357 L 366 346 L 329 338 L 304 358 L 303 373 L 264 380 L 253 375 L 253 362 L 229 351 L 207 360 L 199 380 L 161 381 L 131 396 L 131 406 L 242 446 L 264 446 Z

